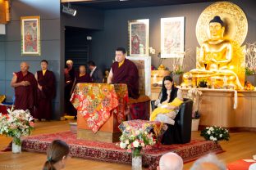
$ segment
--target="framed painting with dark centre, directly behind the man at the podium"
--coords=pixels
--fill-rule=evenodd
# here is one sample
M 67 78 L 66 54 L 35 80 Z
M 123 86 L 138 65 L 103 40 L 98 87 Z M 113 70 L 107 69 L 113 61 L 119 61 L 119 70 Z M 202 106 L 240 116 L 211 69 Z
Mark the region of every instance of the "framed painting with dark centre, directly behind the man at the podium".
M 149 56 L 149 19 L 129 20 L 129 56 Z

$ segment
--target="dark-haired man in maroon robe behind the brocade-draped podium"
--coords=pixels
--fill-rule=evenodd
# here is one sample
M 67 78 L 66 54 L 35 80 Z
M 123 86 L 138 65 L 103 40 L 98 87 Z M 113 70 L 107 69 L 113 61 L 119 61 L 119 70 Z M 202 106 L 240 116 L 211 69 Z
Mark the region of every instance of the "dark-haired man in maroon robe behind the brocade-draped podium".
M 139 98 L 139 72 L 136 65 L 126 59 L 125 48 L 117 48 L 116 60 L 111 66 L 107 83 L 125 83 L 128 87 L 129 97 Z

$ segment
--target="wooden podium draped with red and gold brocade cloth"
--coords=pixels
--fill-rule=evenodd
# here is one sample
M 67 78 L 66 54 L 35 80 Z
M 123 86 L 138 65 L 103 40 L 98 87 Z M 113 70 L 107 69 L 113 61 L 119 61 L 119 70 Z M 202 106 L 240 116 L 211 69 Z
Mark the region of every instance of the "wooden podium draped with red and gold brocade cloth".
M 77 110 L 77 137 L 91 141 L 118 141 L 118 125 L 128 114 L 126 84 L 78 83 L 71 96 Z

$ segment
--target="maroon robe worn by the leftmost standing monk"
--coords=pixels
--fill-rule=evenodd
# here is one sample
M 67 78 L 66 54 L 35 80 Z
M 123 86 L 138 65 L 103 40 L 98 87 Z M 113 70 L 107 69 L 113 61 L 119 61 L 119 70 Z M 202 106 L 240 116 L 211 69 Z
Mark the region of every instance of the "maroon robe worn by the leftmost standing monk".
M 22 81 L 30 82 L 29 86 L 15 87 L 15 109 L 30 110 L 30 114 L 34 116 L 34 106 L 37 104 L 37 82 L 34 74 L 28 72 L 23 76 L 21 71 L 15 74 L 17 76 L 16 83 L 21 83 Z

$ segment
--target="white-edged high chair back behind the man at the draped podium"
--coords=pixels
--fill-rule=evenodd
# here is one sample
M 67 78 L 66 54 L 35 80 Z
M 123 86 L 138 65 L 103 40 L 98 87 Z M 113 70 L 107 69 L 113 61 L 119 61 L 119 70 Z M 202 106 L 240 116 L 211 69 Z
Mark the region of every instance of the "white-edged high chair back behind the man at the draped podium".
M 151 96 L 151 57 L 126 56 L 133 61 L 139 71 L 139 94 Z

